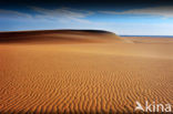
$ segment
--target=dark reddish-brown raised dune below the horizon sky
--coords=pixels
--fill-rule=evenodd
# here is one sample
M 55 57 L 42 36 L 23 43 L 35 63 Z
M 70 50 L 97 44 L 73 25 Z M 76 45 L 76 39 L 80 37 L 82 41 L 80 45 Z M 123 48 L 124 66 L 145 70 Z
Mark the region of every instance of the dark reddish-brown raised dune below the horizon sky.
M 119 41 L 120 38 L 102 30 L 42 30 L 0 32 L 1 43 L 85 43 Z

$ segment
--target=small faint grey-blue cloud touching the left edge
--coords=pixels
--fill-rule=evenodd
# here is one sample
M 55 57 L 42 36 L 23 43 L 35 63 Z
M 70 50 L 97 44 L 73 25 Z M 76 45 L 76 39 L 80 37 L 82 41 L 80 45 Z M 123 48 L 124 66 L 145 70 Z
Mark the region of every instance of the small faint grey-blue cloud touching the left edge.
M 0 17 L 1 18 L 28 18 L 28 19 L 32 18 L 32 15 L 28 13 L 22 13 L 12 10 L 2 10 L 2 9 L 0 9 Z

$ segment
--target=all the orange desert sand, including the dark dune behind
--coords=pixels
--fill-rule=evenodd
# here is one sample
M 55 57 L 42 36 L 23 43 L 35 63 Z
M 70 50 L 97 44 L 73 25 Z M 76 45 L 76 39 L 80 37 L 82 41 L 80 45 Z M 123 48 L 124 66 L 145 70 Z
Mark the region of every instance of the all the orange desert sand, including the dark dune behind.
M 1 113 L 133 113 L 173 103 L 173 39 L 0 33 Z

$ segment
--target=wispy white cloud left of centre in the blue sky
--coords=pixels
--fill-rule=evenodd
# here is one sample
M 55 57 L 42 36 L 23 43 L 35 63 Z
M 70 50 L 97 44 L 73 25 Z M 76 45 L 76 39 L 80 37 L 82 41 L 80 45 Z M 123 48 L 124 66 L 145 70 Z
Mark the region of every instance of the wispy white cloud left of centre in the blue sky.
M 61 22 L 70 22 L 70 21 L 77 21 L 77 22 L 86 22 L 89 23 L 89 20 L 85 20 L 88 15 L 93 14 L 91 11 L 84 11 L 84 10 L 75 10 L 71 8 L 59 8 L 59 9 L 43 9 L 38 7 L 31 7 L 32 10 L 37 12 L 35 18 L 40 19 L 47 19 L 47 20 L 57 20 Z

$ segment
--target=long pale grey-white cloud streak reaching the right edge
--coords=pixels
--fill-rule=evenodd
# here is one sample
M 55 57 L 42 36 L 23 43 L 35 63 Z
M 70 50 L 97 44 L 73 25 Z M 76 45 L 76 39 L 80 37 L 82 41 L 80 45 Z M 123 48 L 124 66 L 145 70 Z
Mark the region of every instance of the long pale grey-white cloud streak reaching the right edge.
M 122 12 L 118 11 L 99 11 L 106 14 L 147 14 L 147 15 L 160 15 L 164 18 L 173 18 L 173 7 L 152 7 L 143 9 L 132 9 Z

